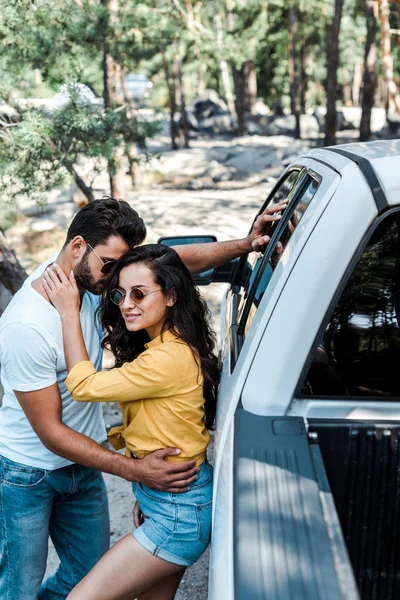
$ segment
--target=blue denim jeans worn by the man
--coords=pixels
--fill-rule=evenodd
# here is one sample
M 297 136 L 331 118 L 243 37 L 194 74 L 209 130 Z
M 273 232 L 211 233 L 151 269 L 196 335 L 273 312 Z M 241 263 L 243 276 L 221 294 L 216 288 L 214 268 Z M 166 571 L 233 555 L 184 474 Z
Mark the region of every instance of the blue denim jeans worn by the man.
M 41 585 L 49 536 L 60 565 Z M 64 600 L 109 540 L 100 472 L 80 465 L 45 471 L 0 456 L 1 600 Z

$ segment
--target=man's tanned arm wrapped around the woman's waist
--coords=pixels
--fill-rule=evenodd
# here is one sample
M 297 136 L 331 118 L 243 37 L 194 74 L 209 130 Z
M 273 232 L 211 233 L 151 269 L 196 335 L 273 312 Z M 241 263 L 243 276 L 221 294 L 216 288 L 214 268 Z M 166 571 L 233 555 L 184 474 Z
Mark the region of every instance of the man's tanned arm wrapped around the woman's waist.
M 15 395 L 42 444 L 67 460 L 171 493 L 187 491 L 196 479 L 195 461 L 165 462 L 164 458 L 176 454 L 176 449 L 157 450 L 141 460 L 134 460 L 103 448 L 65 425 L 57 384 L 33 392 L 15 390 Z

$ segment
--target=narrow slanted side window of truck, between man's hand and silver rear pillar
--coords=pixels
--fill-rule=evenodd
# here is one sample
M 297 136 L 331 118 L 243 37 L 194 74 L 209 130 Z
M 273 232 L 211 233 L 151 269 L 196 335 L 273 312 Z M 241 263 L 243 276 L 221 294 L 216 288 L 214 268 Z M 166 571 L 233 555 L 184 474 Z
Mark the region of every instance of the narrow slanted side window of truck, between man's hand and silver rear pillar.
M 296 230 L 296 227 L 303 218 L 312 198 L 315 196 L 320 183 L 321 178 L 316 174 L 309 172 L 306 176 L 306 180 L 304 181 L 302 179 L 303 189 L 301 190 L 301 193 L 297 197 L 295 197 L 295 194 L 291 194 L 294 205 L 290 204 L 290 200 L 292 198 L 288 198 L 288 217 L 289 215 L 291 216 L 290 218 L 286 219 L 286 225 L 284 226 L 279 237 L 276 239 L 276 242 L 279 241 L 282 244 L 283 251 L 285 250 L 290 238 Z M 279 199 L 277 201 L 280 202 L 281 200 Z M 273 198 L 273 202 L 275 202 L 275 197 Z M 285 215 L 283 215 L 283 219 L 284 218 Z M 241 314 L 241 330 L 244 334 L 244 337 L 248 333 L 264 292 L 267 289 L 274 271 L 283 256 L 283 251 L 279 254 L 276 252 L 272 254 L 269 253 L 270 256 L 261 255 L 256 260 L 255 266 L 249 278 L 247 306 L 243 307 L 243 312 Z

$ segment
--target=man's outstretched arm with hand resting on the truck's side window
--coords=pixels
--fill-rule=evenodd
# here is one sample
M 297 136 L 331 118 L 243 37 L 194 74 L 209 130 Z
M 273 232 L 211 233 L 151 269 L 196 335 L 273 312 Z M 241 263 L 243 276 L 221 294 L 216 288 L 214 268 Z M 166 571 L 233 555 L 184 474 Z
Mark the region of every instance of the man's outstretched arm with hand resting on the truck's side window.
M 211 242 L 209 244 L 186 244 L 173 246 L 191 273 L 202 273 L 226 264 L 253 250 L 263 252 L 270 241 L 271 224 L 279 221 L 280 212 L 287 202 L 269 206 L 254 222 L 249 235 L 241 240 Z M 279 248 L 277 247 L 279 251 Z

